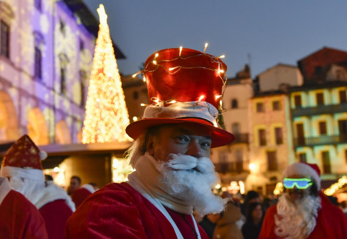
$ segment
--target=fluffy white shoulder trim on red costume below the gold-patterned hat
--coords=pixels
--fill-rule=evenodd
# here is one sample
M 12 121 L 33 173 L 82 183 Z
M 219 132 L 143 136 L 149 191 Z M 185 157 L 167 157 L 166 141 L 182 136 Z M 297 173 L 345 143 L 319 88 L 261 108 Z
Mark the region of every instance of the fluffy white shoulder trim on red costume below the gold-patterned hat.
M 75 211 L 75 203 L 71 200 L 70 196 L 65 190 L 58 185 L 54 184 L 53 181 L 48 181 L 47 186 L 44 187 L 41 192 L 36 193 L 36 197 L 31 199 L 32 203 L 37 209 L 42 208 L 44 205 L 56 200 L 64 199 L 65 203 L 69 206 L 71 211 Z

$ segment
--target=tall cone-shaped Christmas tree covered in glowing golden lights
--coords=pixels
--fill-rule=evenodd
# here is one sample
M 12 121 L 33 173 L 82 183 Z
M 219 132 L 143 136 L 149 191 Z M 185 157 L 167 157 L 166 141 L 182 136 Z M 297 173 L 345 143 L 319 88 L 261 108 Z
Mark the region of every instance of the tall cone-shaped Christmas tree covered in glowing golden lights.
M 131 141 L 125 133 L 129 115 L 102 4 L 98 13 L 100 29 L 88 87 L 82 143 Z

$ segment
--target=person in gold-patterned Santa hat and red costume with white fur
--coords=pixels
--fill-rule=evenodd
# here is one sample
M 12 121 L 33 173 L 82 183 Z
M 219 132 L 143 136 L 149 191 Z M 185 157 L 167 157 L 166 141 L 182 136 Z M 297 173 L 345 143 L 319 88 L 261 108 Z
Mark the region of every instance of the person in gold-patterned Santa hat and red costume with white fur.
M 46 157 L 47 153 L 40 151 L 29 136 L 24 135 L 3 157 L 0 176 L 8 177 L 11 188 L 39 209 L 49 238 L 61 239 L 75 204 L 64 189 L 53 181 L 45 182 L 41 160 Z

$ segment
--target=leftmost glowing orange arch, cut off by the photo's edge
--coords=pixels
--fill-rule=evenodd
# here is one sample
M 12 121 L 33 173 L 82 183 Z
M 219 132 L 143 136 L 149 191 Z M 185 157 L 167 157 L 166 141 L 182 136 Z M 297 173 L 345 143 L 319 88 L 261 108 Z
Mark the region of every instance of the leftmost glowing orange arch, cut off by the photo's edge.
M 0 141 L 16 140 L 18 133 L 15 106 L 7 92 L 0 90 Z

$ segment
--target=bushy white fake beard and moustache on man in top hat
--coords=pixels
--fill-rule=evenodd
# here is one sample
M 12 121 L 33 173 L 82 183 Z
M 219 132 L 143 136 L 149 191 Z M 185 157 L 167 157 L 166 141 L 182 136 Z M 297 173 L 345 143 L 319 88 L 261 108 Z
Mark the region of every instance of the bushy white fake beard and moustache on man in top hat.
M 189 155 L 170 155 L 175 157 L 176 163 L 187 165 L 187 161 L 192 160 L 192 156 Z M 203 157 L 196 160 L 200 162 L 204 160 L 204 164 L 200 164 L 204 169 L 200 168 L 200 171 L 173 169 L 171 161 L 159 163 L 158 170 L 163 175 L 161 181 L 168 188 L 168 194 L 190 202 L 198 214 L 219 213 L 223 211 L 226 203 L 225 199 L 212 193 L 212 188 L 220 181 L 219 175 L 214 171 L 214 165 L 209 158 Z M 199 166 L 196 168 L 199 169 Z

